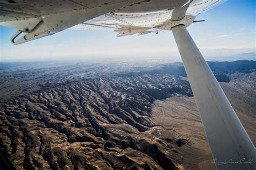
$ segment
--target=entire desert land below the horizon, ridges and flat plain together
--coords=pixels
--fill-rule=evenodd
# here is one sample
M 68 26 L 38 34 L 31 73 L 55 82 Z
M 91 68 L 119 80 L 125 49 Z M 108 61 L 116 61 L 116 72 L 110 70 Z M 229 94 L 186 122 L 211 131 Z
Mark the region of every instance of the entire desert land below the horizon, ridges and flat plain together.
M 209 65 L 255 144 L 256 61 Z M 3 168 L 214 169 L 182 63 L 2 63 L 0 77 Z

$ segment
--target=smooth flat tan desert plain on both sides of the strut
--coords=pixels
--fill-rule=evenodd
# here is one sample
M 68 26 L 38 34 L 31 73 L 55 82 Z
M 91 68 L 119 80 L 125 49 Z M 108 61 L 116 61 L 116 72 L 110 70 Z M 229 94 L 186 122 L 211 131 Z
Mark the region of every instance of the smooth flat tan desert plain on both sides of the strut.
M 230 83 L 221 83 L 221 86 L 256 145 L 255 79 L 242 76 Z M 156 101 L 152 113 L 154 123 L 165 129 L 162 133 L 163 138 L 184 138 L 184 145 L 176 148 L 178 156 L 183 157 L 180 165 L 185 169 L 215 169 L 193 97 L 171 97 L 164 101 Z

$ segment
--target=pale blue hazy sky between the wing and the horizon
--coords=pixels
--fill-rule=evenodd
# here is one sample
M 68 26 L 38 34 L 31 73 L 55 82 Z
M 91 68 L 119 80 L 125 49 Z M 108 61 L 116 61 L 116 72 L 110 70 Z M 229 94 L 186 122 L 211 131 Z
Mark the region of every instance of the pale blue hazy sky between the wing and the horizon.
M 242 58 L 237 54 L 256 54 L 255 16 L 255 0 L 229 0 L 198 15 L 196 20 L 206 21 L 193 23 L 187 29 L 206 60 L 239 60 Z M 10 37 L 15 32 L 0 26 L 0 62 L 112 57 L 181 60 L 171 31 L 117 38 L 112 31 L 68 29 L 12 45 Z

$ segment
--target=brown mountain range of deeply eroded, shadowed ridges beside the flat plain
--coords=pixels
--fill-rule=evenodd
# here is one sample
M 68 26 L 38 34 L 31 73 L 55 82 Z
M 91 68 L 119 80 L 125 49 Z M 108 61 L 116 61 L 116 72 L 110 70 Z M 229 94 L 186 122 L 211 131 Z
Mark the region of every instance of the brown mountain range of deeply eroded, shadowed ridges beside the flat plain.
M 1 112 L 0 146 L 14 167 L 176 168 L 157 138 L 151 103 L 191 96 L 182 77 L 106 76 L 41 89 L 9 100 Z

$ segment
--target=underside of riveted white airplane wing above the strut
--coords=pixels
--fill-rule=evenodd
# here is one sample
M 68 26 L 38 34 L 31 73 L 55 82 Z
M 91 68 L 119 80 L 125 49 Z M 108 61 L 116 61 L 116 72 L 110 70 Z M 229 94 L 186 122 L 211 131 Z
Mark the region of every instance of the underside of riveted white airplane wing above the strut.
M 181 23 L 188 26 L 200 12 L 221 2 L 223 0 L 0 0 L 0 25 L 17 30 L 11 37 L 13 44 L 50 36 L 70 27 L 115 31 L 118 37 L 142 35 L 170 30 L 175 9 L 185 9 L 186 18 Z

